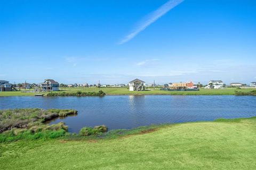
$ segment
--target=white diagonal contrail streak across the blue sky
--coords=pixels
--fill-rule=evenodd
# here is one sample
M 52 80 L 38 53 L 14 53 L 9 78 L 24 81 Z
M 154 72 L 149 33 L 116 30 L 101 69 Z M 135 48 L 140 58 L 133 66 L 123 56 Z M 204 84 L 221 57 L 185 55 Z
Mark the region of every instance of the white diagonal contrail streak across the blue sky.
M 151 23 L 155 22 L 161 16 L 166 14 L 168 11 L 170 11 L 172 8 L 175 6 L 179 5 L 182 3 L 184 0 L 170 0 L 166 2 L 164 5 L 159 7 L 156 11 L 152 12 L 149 14 L 145 19 L 143 19 L 137 27 L 129 34 L 127 35 L 119 44 L 124 44 L 127 41 L 130 41 L 132 38 L 138 35 L 141 31 L 145 30 Z

